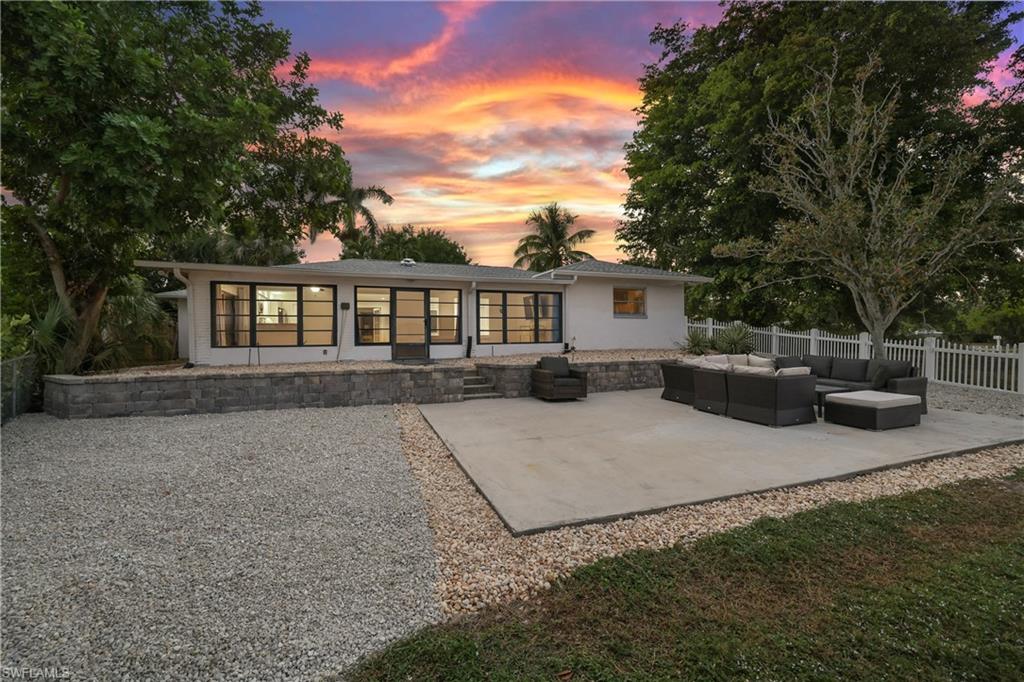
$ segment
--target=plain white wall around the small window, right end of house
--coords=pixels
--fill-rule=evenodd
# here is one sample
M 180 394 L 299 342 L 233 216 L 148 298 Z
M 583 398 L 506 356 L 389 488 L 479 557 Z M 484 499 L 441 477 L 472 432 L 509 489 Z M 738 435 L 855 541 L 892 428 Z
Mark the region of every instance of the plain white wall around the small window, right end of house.
M 612 306 L 615 287 L 644 289 L 647 314 L 616 317 Z M 575 337 L 580 350 L 671 348 L 684 335 L 682 285 L 581 278 L 568 288 L 565 309 L 565 340 Z

